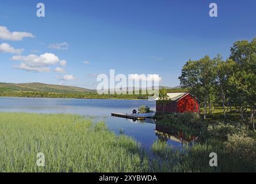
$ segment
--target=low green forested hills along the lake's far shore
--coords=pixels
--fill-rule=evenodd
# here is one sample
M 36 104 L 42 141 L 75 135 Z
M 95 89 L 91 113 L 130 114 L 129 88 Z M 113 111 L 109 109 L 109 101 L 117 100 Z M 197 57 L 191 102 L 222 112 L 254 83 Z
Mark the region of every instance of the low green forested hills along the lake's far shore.
M 159 87 L 160 89 L 162 88 Z M 186 89 L 166 87 L 167 92 L 183 92 Z M 129 91 L 131 89 L 127 89 Z M 96 90 L 74 86 L 47 85 L 44 83 L 0 83 L 0 97 L 91 98 L 91 99 L 147 99 L 142 89 L 139 94 L 98 94 Z

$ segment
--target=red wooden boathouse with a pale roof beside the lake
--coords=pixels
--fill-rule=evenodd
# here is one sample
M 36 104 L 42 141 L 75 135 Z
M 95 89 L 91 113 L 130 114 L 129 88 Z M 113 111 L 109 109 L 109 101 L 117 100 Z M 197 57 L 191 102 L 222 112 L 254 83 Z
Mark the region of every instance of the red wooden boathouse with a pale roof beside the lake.
M 156 111 L 171 113 L 199 112 L 198 99 L 190 93 L 167 93 L 169 101 L 156 99 Z

